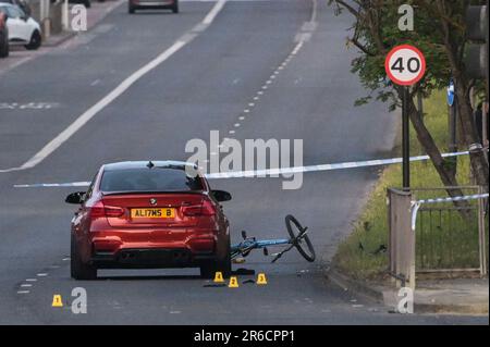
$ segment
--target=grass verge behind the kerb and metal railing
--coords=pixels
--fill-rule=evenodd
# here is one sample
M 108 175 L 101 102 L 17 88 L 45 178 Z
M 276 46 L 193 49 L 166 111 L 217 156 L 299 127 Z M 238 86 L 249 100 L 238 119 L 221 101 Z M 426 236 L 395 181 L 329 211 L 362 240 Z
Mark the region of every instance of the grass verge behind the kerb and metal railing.
M 448 150 L 448 107 L 445 103 L 445 92 L 434 92 L 424 102 L 425 122 L 431 132 L 434 140 L 441 150 Z M 395 115 L 393 115 L 395 116 Z M 411 154 L 422 154 L 422 149 L 415 136 L 415 131 L 411 132 Z M 394 152 L 400 154 L 400 148 Z M 412 186 L 421 187 L 443 187 L 438 173 L 430 161 L 416 162 L 411 164 Z M 467 157 L 457 159 L 457 179 L 460 185 L 469 185 L 469 160 Z M 373 280 L 384 276 L 388 269 L 388 212 L 387 212 L 387 188 L 400 187 L 402 181 L 401 165 L 385 168 L 380 175 L 368 202 L 354 225 L 353 233 L 343 240 L 333 258 L 333 264 L 341 272 L 359 280 Z M 440 194 L 441 195 L 441 194 Z M 445 196 L 445 193 L 442 191 Z M 431 197 L 434 197 L 433 195 Z M 457 214 L 456 216 L 454 216 Z M 433 220 L 433 218 L 431 218 Z M 431 233 L 417 235 L 417 265 L 425 262 L 426 267 L 444 267 L 449 262 L 458 261 L 473 265 L 478 260 L 478 239 L 475 238 L 475 227 L 470 227 L 470 235 L 463 236 L 460 231 L 468 230 L 468 225 L 461 219 L 458 213 L 448 213 L 448 216 L 439 216 L 439 225 L 431 228 Z M 424 218 L 420 219 L 424 222 Z M 437 250 L 443 251 L 448 241 L 449 225 L 458 237 L 451 238 L 457 246 L 451 253 L 437 256 Z M 432 226 L 431 226 L 432 227 Z M 477 227 L 476 227 L 476 232 Z M 477 236 L 476 236 L 477 237 Z M 426 249 L 420 247 L 424 241 Z M 476 249 L 475 249 L 476 241 Z M 420 248 L 422 248 L 420 250 Z M 475 255 L 476 250 L 476 255 Z M 454 253 L 463 257 L 455 259 Z M 442 255 L 442 253 L 441 253 Z M 432 258 L 431 258 L 432 257 Z

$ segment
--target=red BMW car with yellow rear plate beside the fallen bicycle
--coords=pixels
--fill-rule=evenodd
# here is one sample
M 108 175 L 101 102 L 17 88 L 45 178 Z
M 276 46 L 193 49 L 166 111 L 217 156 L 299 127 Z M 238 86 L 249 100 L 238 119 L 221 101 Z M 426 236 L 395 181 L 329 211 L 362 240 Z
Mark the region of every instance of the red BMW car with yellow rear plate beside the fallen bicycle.
M 203 277 L 231 273 L 230 223 L 207 179 L 184 162 L 119 162 L 100 168 L 72 220 L 71 275 L 98 269 L 200 268 Z M 193 169 L 193 170 L 187 170 Z M 194 171 L 197 174 L 191 174 Z

